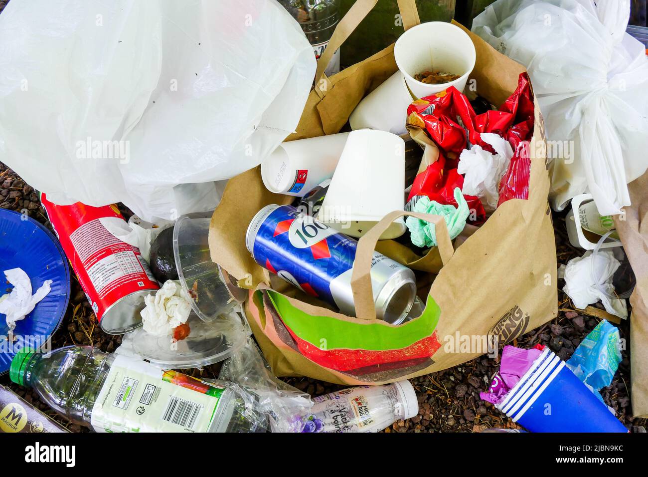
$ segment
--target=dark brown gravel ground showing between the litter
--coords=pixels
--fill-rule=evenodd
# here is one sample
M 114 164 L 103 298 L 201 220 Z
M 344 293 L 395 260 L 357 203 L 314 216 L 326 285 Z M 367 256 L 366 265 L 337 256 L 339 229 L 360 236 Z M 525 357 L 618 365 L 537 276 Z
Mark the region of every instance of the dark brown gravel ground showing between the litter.
M 0 12 L 8 0 L 0 0 Z M 0 208 L 27 212 L 30 217 L 49 226 L 45 212 L 40 205 L 34 189 L 13 171 L 0 163 Z M 124 210 L 125 213 L 128 211 Z M 556 245 L 559 263 L 566 263 L 578 256 L 566 239 L 564 215 L 554 215 Z M 559 283 L 562 287 L 562 282 Z M 601 315 L 600 308 L 588 309 L 587 313 L 575 310 L 573 304 L 562 291 L 559 291 L 559 315 L 551 323 L 529 332 L 517 340 L 515 345 L 532 347 L 537 343 L 548 345 L 562 359 L 569 358 L 575 347 L 596 326 Z M 619 324 L 621 337 L 626 339 L 623 361 L 614 376 L 612 385 L 603 389 L 601 394 L 608 406 L 633 432 L 645 432 L 646 419 L 633 419 L 629 398 L 630 360 L 629 360 L 629 323 Z M 104 334 L 97 326 L 97 319 L 76 278 L 73 277 L 71 300 L 64 321 L 52 336 L 54 349 L 67 345 L 93 345 L 104 351 L 113 351 L 121 343 L 121 336 Z M 213 378 L 218 375 L 219 365 L 198 371 L 189 370 L 194 376 Z M 398 421 L 385 432 L 479 432 L 485 428 L 518 428 L 507 417 L 495 410 L 492 404 L 480 400 L 480 391 L 485 391 L 491 376 L 499 369 L 499 359 L 477 358 L 463 365 L 438 373 L 428 374 L 412 380 L 419 397 L 419 415 L 407 421 Z M 313 396 L 341 389 L 341 386 L 318 382 L 310 378 L 287 378 L 286 382 Z M 8 376 L 0 376 L 0 384 L 9 385 L 28 402 L 51 415 L 72 432 L 85 432 L 87 429 L 70 424 L 56 415 L 35 393 L 10 383 Z

